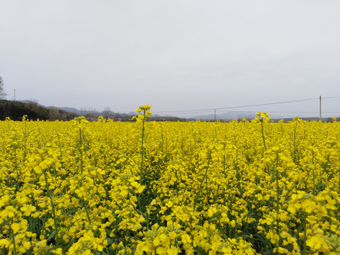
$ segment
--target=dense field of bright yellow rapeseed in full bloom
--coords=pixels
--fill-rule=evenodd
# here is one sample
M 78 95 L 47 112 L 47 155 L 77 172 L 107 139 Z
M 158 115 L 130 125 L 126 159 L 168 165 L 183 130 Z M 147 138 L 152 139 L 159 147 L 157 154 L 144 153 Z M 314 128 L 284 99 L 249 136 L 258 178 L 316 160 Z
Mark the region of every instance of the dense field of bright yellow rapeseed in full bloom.
M 1 254 L 340 254 L 340 123 L 0 122 Z

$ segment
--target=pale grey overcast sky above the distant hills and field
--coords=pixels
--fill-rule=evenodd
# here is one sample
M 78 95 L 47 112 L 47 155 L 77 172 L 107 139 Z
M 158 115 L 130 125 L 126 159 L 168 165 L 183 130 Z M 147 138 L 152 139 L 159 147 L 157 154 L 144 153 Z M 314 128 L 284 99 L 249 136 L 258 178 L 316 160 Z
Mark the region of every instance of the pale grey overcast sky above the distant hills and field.
M 340 96 L 339 11 L 339 0 L 1 0 L 0 76 L 8 99 L 120 113 Z M 340 98 L 323 110 L 340 112 Z

